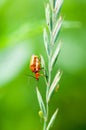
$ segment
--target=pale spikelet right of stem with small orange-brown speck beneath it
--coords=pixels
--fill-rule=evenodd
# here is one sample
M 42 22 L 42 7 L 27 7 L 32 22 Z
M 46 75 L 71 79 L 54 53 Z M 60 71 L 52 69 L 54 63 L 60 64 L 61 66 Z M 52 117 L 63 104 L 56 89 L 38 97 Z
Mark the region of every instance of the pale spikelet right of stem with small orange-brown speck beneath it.
M 53 80 L 53 82 L 52 82 L 52 84 L 51 84 L 51 87 L 50 87 L 49 93 L 48 93 L 48 99 L 47 99 L 48 102 L 50 100 L 50 97 L 51 97 L 56 85 L 59 83 L 61 75 L 62 75 L 62 73 L 60 71 L 58 71 L 55 78 L 54 78 L 54 80 Z

